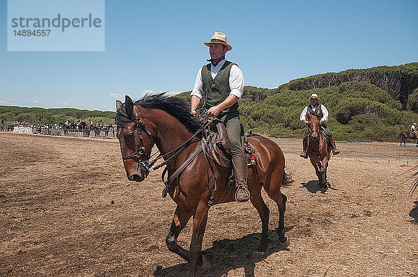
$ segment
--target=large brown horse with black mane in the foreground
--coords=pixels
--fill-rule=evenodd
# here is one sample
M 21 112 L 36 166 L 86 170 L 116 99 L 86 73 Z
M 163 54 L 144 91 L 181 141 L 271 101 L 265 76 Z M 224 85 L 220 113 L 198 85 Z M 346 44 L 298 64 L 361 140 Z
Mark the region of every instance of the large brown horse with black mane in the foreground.
M 123 164 L 127 178 L 141 182 L 148 175 L 148 161 L 153 145 L 156 145 L 160 155 L 167 163 L 169 177 L 194 154 L 199 153 L 201 139 L 199 134 L 201 122 L 192 117 L 189 106 L 176 97 L 162 94 L 146 95 L 142 100 L 132 102 L 125 97 L 125 104 L 116 101 L 116 124 L 118 140 L 121 144 Z M 173 154 L 185 141 L 192 139 L 187 148 L 178 155 Z M 251 193 L 251 203 L 257 209 L 261 218 L 263 230 L 261 242 L 257 251 L 263 253 L 268 248 L 268 222 L 270 210 L 261 197 L 261 187 L 268 196 L 277 203 L 279 208 L 279 227 L 277 233 L 283 247 L 288 247 L 289 240 L 284 235 L 284 212 L 286 196 L 281 193 L 281 184 L 292 182 L 285 173 L 284 155 L 279 146 L 263 136 L 251 136 L 249 143 L 253 145 L 258 155 L 257 165 L 248 170 L 248 184 Z M 173 157 L 173 159 L 171 159 Z M 208 184 L 215 179 L 217 189 L 214 203 L 235 201 L 235 186 L 229 186 L 231 168 L 214 164 L 212 173 L 208 174 L 203 153 L 196 155 L 190 164 L 177 175 L 168 193 L 177 204 L 171 229 L 166 243 L 169 251 L 180 255 L 190 262 L 190 276 L 196 276 L 198 266 L 208 267 L 208 260 L 201 254 L 203 235 L 208 220 L 210 191 Z M 212 177 L 212 176 L 215 176 Z M 189 251 L 177 243 L 178 235 L 193 216 L 193 233 Z

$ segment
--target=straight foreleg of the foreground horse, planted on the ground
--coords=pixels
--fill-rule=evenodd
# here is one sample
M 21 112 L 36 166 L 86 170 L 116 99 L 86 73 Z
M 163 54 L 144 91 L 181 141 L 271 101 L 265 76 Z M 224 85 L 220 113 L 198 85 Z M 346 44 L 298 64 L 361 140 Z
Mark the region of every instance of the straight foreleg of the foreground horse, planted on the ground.
M 197 266 L 201 266 L 203 259 L 201 255 L 203 235 L 205 235 L 206 223 L 208 221 L 209 207 L 207 201 L 202 200 L 197 206 L 193 216 L 193 234 L 190 242 L 190 277 L 195 277 Z

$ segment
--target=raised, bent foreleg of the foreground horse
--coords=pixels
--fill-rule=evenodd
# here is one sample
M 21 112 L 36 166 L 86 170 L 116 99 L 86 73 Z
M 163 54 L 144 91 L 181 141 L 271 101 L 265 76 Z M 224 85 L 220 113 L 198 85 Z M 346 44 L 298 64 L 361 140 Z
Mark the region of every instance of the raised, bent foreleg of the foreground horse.
M 171 222 L 169 235 L 167 235 L 166 238 L 166 244 L 169 248 L 169 251 L 176 253 L 181 258 L 187 260 L 187 262 L 190 261 L 189 251 L 177 244 L 177 238 L 181 230 L 185 228 L 185 225 L 187 224 L 191 216 L 192 214 L 190 214 L 189 212 L 185 212 L 183 211 L 183 209 L 177 207 L 176 212 L 174 212 L 173 221 Z

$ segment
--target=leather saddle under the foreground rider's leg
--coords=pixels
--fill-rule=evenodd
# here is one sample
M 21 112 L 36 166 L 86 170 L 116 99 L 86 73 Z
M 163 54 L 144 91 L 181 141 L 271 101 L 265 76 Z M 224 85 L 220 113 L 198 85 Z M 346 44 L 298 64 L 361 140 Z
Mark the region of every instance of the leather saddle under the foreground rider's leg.
M 209 134 L 207 134 L 206 137 L 208 138 L 208 144 L 210 144 L 209 149 L 212 154 L 212 159 L 219 164 L 219 166 L 227 168 L 231 167 L 231 145 L 229 143 L 225 125 L 215 118 L 210 122 L 209 126 Z M 252 134 L 245 136 L 244 127 L 241 125 L 241 145 L 242 150 L 245 153 L 245 158 L 247 159 L 247 167 L 256 166 L 257 163 L 256 151 L 248 141 L 248 137 L 251 135 Z

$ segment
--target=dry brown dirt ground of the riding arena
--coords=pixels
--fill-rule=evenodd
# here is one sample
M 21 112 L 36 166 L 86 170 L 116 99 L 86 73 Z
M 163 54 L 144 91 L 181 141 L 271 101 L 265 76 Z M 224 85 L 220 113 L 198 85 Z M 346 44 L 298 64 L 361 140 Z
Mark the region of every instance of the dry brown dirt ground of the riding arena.
M 175 204 L 161 196 L 161 172 L 129 182 L 116 139 L 0 132 L 0 154 L 0 276 L 187 276 L 165 245 Z M 203 239 L 212 268 L 199 276 L 418 276 L 416 164 L 333 157 L 321 193 L 309 160 L 285 157 L 289 248 L 265 193 L 263 258 L 251 255 L 261 237 L 251 203 L 217 205 Z M 179 237 L 187 248 L 190 227 Z

